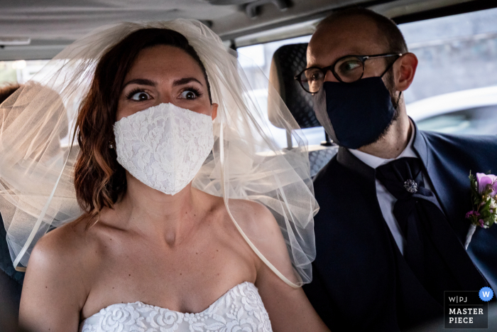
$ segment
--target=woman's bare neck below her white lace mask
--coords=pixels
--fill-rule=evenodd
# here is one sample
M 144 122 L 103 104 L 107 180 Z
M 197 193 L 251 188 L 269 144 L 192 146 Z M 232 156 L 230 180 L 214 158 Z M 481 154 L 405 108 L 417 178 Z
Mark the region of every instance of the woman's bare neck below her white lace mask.
M 147 237 L 162 237 L 171 247 L 192 230 L 200 216 L 196 211 L 200 202 L 191 184 L 175 195 L 166 195 L 132 176 L 126 176 L 126 181 L 126 194 L 114 205 L 120 223 Z

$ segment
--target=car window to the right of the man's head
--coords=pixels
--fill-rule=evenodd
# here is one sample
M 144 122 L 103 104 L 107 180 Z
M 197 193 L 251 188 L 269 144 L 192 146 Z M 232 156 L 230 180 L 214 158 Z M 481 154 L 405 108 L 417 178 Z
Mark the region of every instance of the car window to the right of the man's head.
M 497 9 L 401 24 L 419 65 L 405 91 L 425 130 L 497 134 Z

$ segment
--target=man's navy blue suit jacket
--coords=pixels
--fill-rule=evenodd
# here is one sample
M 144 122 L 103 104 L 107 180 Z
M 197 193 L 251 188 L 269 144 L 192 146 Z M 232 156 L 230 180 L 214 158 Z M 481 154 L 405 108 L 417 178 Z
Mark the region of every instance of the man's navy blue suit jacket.
M 497 136 L 416 130 L 413 144 L 462 245 L 469 228 L 465 215 L 471 210 L 469 171 L 497 173 Z M 403 331 L 443 315 L 395 244 L 378 203 L 375 176 L 373 168 L 340 148 L 314 181 L 320 204 L 317 257 L 312 283 L 304 290 L 332 331 Z M 494 290 L 496 248 L 497 226 L 477 227 L 467 250 L 471 268 Z

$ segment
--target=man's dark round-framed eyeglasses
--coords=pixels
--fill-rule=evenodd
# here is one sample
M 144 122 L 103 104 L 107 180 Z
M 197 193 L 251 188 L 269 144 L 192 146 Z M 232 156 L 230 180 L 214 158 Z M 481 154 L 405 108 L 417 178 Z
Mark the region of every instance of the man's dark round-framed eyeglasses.
M 302 70 L 297 76 L 295 76 L 295 80 L 300 82 L 300 86 L 302 89 L 309 93 L 316 93 L 320 91 L 323 83 L 324 77 L 328 70 L 332 71 L 332 74 L 339 82 L 351 83 L 356 82 L 357 80 L 361 80 L 364 75 L 364 63 L 366 60 L 377 59 L 377 58 L 387 58 L 395 56 L 395 60 L 402 56 L 402 53 L 386 53 L 386 54 L 376 54 L 376 55 L 345 55 L 342 58 L 339 58 L 333 65 L 329 65 L 328 67 L 319 68 L 319 67 L 311 67 Z M 381 76 L 385 75 L 385 73 L 392 67 L 395 61 L 390 63 L 386 70 L 381 74 Z

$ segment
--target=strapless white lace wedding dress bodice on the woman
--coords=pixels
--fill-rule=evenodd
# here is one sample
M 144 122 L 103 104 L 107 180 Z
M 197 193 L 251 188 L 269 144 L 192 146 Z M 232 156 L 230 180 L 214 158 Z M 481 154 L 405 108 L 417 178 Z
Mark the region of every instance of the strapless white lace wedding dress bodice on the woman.
M 236 285 L 198 314 L 135 302 L 112 304 L 85 319 L 81 332 L 272 332 L 268 312 L 250 282 Z

